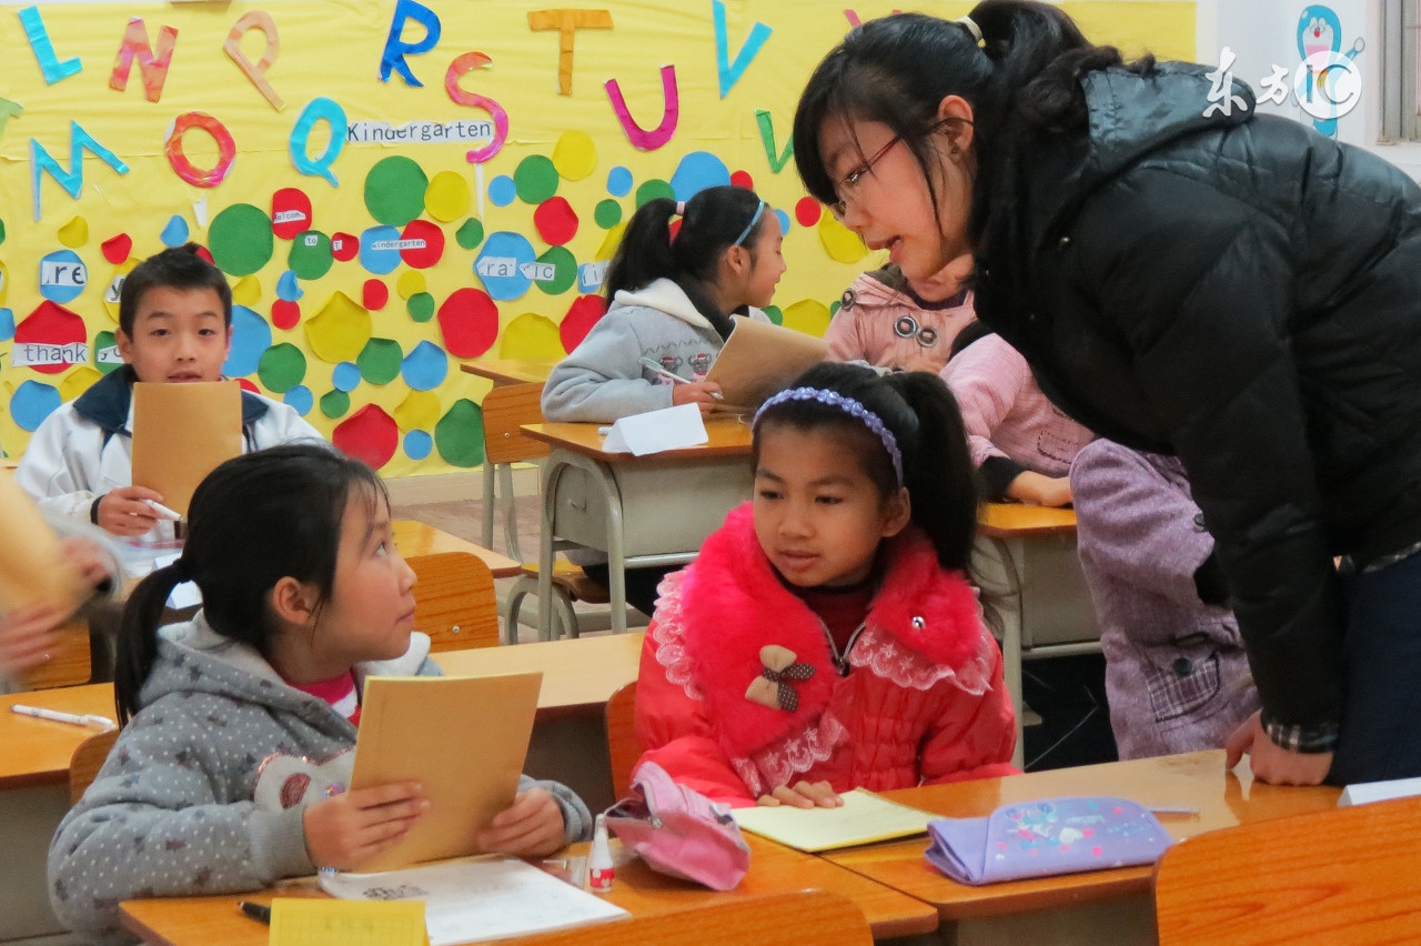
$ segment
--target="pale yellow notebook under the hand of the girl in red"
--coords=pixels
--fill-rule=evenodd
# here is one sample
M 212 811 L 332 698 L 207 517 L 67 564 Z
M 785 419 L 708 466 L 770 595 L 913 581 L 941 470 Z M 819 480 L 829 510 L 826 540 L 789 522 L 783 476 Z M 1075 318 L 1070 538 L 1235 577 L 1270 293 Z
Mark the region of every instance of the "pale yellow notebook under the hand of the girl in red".
M 911 838 L 925 834 L 938 815 L 888 801 L 867 788 L 840 795 L 840 808 L 791 808 L 789 805 L 736 808 L 736 824 L 800 851 L 833 851 L 855 844 Z

